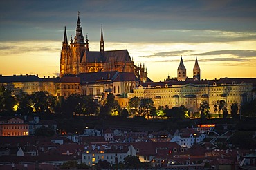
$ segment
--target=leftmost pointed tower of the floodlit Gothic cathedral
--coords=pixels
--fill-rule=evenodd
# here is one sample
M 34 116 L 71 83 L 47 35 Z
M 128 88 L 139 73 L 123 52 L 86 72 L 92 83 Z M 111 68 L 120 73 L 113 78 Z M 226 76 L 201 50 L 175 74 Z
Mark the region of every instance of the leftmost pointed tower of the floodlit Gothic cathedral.
M 60 54 L 60 77 L 65 74 L 70 74 L 71 67 L 71 51 L 68 45 L 68 38 L 66 36 L 66 27 L 64 29 L 64 39 L 62 42 L 62 51 Z

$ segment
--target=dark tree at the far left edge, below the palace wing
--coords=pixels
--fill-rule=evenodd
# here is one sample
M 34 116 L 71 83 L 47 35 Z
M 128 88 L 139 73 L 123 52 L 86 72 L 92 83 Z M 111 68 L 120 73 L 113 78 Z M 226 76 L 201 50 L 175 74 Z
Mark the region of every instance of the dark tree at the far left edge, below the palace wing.
M 12 92 L 6 89 L 3 85 L 0 87 L 0 111 L 12 111 L 15 106 L 15 98 L 12 96 Z

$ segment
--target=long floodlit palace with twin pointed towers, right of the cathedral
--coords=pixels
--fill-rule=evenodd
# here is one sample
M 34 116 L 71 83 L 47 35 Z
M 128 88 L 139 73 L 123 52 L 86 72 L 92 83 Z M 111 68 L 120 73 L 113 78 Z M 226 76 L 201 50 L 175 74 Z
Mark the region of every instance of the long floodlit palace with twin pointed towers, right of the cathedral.
M 186 69 L 181 58 L 177 69 L 177 78 L 160 82 L 141 83 L 129 94 L 129 98 L 152 98 L 154 106 L 168 105 L 169 108 L 185 105 L 190 111 L 198 111 L 202 100 L 210 104 L 210 112 L 214 113 L 212 103 L 225 100 L 230 109 L 232 103 L 248 102 L 256 98 L 256 78 L 220 78 L 201 80 L 200 67 L 196 58 L 193 78 L 186 76 Z

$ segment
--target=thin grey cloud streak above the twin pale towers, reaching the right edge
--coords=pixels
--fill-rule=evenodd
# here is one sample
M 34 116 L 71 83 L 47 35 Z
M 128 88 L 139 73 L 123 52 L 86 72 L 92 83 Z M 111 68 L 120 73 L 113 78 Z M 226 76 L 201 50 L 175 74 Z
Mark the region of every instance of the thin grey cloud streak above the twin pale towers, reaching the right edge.
M 246 58 L 246 57 L 256 57 L 256 50 L 218 50 L 218 51 L 205 52 L 205 53 L 199 53 L 194 55 L 196 56 L 232 55 L 232 56 L 238 56 L 240 58 Z

